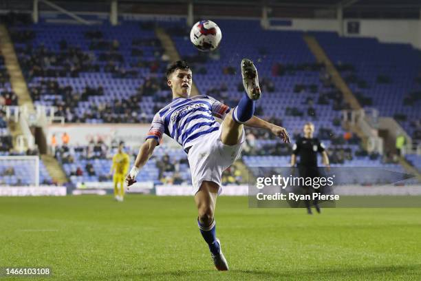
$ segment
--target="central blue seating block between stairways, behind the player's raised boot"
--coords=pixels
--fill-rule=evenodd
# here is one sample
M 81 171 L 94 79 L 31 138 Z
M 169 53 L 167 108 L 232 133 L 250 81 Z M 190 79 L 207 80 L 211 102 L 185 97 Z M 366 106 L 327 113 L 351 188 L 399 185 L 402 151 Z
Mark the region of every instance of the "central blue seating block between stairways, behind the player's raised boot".
M 332 85 L 323 65 L 318 65 L 314 56 L 305 45 L 303 32 L 280 32 L 262 30 L 259 21 L 220 20 L 219 26 L 224 30 L 224 48 L 216 58 L 191 56 L 192 46 L 186 36 L 186 27 L 178 31 L 167 27 L 173 34 L 177 48 L 182 56 L 195 61 L 195 83 L 200 92 L 210 94 L 226 101 L 228 105 L 243 94 L 241 77 L 237 71 L 237 62 L 244 57 L 257 61 L 259 78 L 263 82 L 264 98 L 259 101 L 258 115 L 272 119 L 290 130 L 290 134 L 301 133 L 307 121 L 312 121 L 319 130 L 321 138 L 330 147 L 330 157 L 334 165 L 351 165 L 355 167 L 380 167 L 383 165 L 380 156 L 360 152 L 360 140 L 353 136 L 346 141 L 345 130 L 341 127 L 341 111 L 348 108 L 341 93 Z M 248 34 L 237 32 L 246 28 Z M 253 40 L 246 37 L 252 33 Z M 248 41 L 248 44 L 241 42 Z M 265 50 L 261 45 L 267 46 Z M 235 58 L 227 50 L 237 50 Z M 241 54 L 241 57 L 239 56 Z M 262 63 L 264 61 L 264 63 Z M 206 72 L 206 73 L 201 73 Z M 216 87 L 215 87 L 216 85 Z M 349 133 L 349 132 L 348 132 Z M 256 134 L 256 136 L 254 135 Z M 244 156 L 248 166 L 289 165 L 290 149 L 281 141 L 270 139 L 270 134 L 259 136 L 259 132 L 248 136 L 243 155 L 266 154 L 266 156 Z M 249 140 L 249 138 L 248 138 Z M 252 143 L 252 145 L 250 145 Z M 250 150 L 251 148 L 251 150 Z M 345 153 L 347 152 L 347 153 Z M 273 156 L 270 156 L 273 154 Z M 345 155 L 349 156 L 345 159 Z M 274 156 L 283 155 L 283 156 Z M 337 159 L 337 160 L 335 160 Z M 393 169 L 402 171 L 399 165 L 388 164 Z M 388 166 L 388 167 L 389 167 Z

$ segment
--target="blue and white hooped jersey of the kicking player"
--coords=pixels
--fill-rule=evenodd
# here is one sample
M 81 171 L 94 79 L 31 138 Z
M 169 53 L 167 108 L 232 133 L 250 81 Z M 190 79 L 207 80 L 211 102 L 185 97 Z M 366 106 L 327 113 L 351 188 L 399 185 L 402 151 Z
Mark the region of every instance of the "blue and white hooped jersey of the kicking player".
M 155 138 L 158 145 L 167 134 L 185 149 L 199 138 L 219 129 L 214 117 L 224 119 L 230 107 L 210 96 L 174 98 L 153 117 L 147 138 Z

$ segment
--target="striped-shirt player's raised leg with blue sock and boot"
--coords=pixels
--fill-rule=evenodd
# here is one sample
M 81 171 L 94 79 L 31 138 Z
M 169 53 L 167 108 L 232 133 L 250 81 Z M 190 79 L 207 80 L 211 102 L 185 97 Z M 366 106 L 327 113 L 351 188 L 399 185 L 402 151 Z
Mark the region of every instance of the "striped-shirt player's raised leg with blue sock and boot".
M 237 145 L 239 143 L 243 132 L 243 123 L 247 122 L 255 114 L 255 101 L 261 96 L 259 75 L 250 59 L 241 61 L 241 76 L 243 77 L 246 94 L 222 122 L 221 140 L 224 145 Z

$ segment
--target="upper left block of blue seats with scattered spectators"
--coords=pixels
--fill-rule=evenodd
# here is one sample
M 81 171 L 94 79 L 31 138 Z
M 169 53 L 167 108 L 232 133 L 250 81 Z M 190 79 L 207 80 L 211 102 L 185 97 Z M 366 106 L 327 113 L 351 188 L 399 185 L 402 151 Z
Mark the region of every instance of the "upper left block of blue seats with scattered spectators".
M 163 50 L 148 25 L 39 23 L 10 30 L 34 103 L 58 107 L 66 122 L 150 121 L 154 105 L 168 96 L 161 92 Z

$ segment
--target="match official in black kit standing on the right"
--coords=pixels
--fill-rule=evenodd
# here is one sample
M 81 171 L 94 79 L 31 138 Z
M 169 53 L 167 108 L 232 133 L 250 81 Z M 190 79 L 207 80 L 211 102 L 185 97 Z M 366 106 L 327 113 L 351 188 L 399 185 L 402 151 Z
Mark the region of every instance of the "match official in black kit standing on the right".
M 319 141 L 318 138 L 314 138 L 314 125 L 313 123 L 305 123 L 303 127 L 304 137 L 299 137 L 292 147 L 291 167 L 296 165 L 296 156 L 299 156 L 299 163 L 297 165 L 299 170 L 299 176 L 302 178 L 316 178 L 320 177 L 319 167 L 317 167 L 317 153 L 322 155 L 323 165 L 329 167 L 329 158 L 325 151 L 325 146 Z M 304 194 L 312 195 L 316 191 L 314 187 L 303 185 Z M 312 214 L 310 207 L 310 200 L 305 200 L 305 207 L 307 207 L 307 214 Z M 318 200 L 314 200 L 314 207 L 316 211 L 320 213 L 320 207 Z

